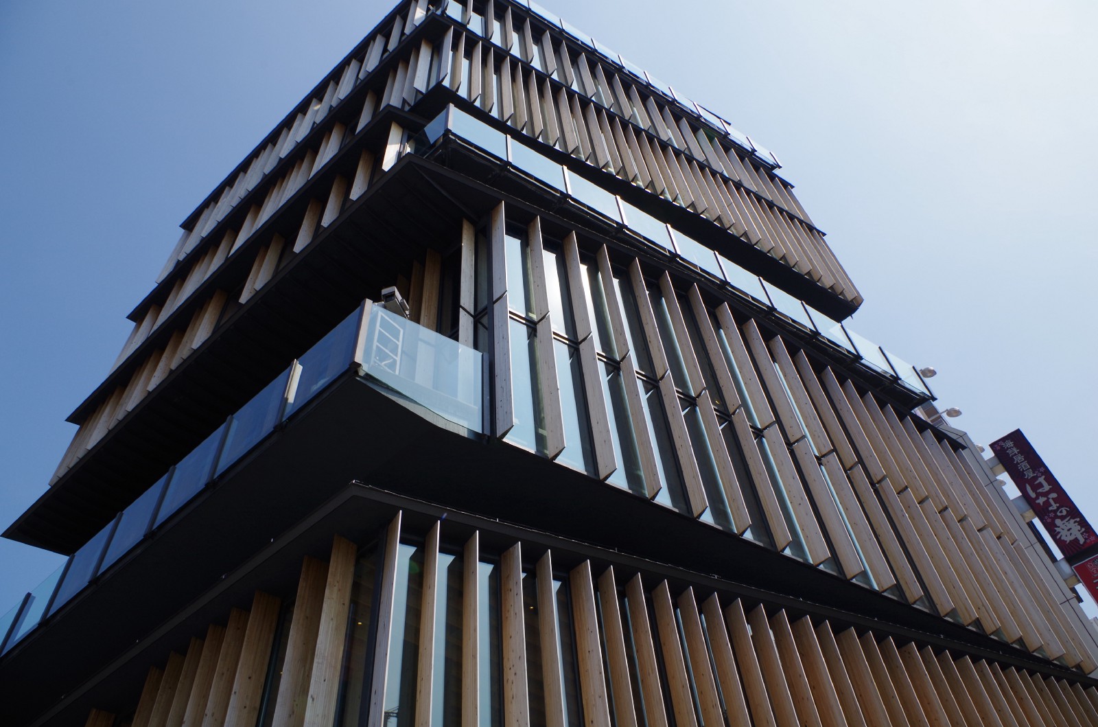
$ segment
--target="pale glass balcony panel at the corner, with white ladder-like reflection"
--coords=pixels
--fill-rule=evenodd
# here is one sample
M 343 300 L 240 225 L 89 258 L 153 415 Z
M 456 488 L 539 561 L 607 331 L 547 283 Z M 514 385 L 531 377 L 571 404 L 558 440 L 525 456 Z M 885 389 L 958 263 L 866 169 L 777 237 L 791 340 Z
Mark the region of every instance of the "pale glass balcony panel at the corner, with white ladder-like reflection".
M 362 369 L 371 379 L 474 432 L 483 428 L 483 355 L 380 305 L 370 309 Z

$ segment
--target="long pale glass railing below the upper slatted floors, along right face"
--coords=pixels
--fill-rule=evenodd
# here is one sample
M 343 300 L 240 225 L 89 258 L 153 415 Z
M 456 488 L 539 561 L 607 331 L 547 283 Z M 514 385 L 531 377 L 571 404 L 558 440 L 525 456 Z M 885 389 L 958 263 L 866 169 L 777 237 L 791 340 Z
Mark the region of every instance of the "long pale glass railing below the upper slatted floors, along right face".
M 771 286 L 703 243 L 452 105 L 427 124 L 417 137 L 419 141 L 413 141 L 410 148 L 416 154 L 426 154 L 447 130 L 501 161 L 509 163 L 516 170 L 554 190 L 569 193 L 573 201 L 589 211 L 614 224 L 625 225 L 662 251 L 677 255 L 763 309 L 780 313 L 811 335 L 839 346 L 875 373 L 894 379 L 895 383 L 916 395 L 933 398 L 933 392 L 910 363 Z

